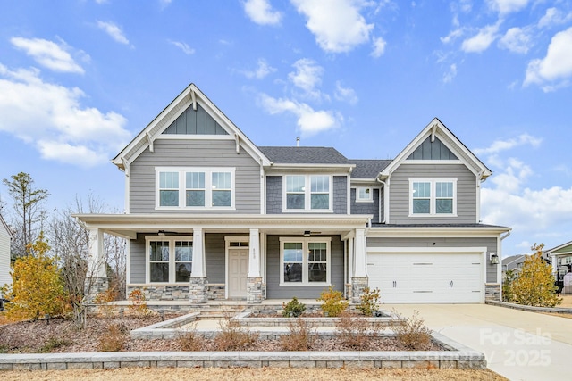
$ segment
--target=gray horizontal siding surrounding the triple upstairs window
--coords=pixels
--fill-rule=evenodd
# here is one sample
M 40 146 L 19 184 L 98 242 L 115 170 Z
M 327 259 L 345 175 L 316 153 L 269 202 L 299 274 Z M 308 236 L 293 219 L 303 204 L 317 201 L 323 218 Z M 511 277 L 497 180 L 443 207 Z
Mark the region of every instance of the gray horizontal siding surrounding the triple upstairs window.
M 260 166 L 234 140 L 157 139 L 130 164 L 130 213 L 260 213 Z M 156 167 L 234 167 L 235 211 L 157 211 Z

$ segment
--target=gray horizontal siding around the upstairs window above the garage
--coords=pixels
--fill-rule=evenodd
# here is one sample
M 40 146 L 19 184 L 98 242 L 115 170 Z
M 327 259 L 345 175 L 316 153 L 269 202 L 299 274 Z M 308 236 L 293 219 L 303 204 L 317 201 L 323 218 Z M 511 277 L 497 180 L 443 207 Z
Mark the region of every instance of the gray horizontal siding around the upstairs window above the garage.
M 457 178 L 457 217 L 409 217 L 409 178 Z M 476 223 L 476 177 L 463 164 L 403 164 L 391 174 L 390 223 Z

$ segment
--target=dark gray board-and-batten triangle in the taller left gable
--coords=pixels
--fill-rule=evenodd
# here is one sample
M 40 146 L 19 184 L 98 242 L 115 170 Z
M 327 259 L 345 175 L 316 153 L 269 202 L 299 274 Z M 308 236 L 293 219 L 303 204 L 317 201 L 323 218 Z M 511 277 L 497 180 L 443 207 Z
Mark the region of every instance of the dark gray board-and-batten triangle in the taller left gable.
M 166 135 L 229 135 L 200 104 L 197 104 L 197 111 L 193 110 L 192 105 L 189 106 L 163 133 Z

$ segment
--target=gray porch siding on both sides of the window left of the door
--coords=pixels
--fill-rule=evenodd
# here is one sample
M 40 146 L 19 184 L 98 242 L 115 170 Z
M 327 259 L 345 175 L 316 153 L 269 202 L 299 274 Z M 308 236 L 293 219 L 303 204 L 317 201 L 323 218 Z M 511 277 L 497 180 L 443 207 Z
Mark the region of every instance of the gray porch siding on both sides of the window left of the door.
M 145 236 L 138 234 L 130 241 L 130 284 L 145 283 Z M 225 275 L 225 236 L 244 236 L 222 233 L 205 235 L 205 268 L 209 283 L 226 283 Z

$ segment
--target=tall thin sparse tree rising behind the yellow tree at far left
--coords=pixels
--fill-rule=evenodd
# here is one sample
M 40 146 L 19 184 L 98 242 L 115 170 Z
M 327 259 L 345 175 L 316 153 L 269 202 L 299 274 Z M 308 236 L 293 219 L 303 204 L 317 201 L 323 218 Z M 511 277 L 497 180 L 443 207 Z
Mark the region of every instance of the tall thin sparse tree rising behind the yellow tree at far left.
M 11 176 L 11 180 L 4 178 L 2 182 L 8 187 L 8 193 L 14 201 L 14 211 L 17 219 L 13 221 L 15 239 L 12 244 L 13 257 L 26 255 L 26 247 L 33 243 L 38 231 L 38 222 L 46 220 L 46 210 L 42 207 L 49 193 L 46 189 L 34 186 L 34 180 L 28 173 L 20 172 Z

